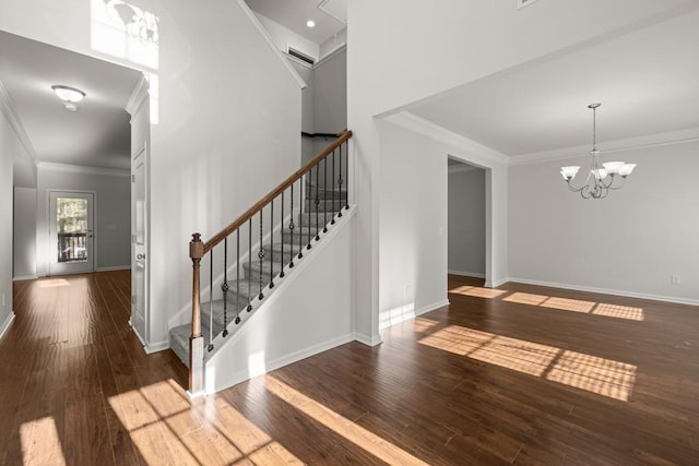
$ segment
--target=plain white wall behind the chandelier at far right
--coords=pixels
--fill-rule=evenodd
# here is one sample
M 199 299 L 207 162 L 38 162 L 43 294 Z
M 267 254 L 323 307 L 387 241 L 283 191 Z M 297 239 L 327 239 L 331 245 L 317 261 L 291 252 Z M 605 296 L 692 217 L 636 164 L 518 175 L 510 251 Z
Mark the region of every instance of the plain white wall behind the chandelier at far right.
M 638 164 L 604 200 L 569 192 L 558 174 L 580 165 L 584 177 L 590 156 L 511 167 L 510 277 L 699 303 L 698 151 L 697 142 L 603 150 L 606 160 Z

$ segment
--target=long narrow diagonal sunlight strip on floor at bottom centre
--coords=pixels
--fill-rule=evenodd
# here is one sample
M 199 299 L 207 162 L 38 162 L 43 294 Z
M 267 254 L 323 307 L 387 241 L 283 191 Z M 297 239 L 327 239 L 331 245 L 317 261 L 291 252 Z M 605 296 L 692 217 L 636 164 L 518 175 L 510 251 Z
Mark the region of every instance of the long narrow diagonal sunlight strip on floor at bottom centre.
M 324 405 L 304 395 L 273 375 L 264 377 L 264 386 L 272 394 L 294 406 L 299 411 L 322 423 L 355 445 L 366 450 L 377 458 L 392 465 L 426 465 L 406 451 L 400 449 L 374 432 L 352 422 Z

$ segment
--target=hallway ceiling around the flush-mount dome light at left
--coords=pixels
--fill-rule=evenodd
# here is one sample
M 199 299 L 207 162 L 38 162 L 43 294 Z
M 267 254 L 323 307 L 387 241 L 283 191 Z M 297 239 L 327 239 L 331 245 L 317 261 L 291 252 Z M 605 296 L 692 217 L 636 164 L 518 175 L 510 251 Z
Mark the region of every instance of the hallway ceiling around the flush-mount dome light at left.
M 4 32 L 0 50 L 0 81 L 37 162 L 129 169 L 125 107 L 140 72 Z M 86 94 L 78 111 L 63 108 L 54 84 Z

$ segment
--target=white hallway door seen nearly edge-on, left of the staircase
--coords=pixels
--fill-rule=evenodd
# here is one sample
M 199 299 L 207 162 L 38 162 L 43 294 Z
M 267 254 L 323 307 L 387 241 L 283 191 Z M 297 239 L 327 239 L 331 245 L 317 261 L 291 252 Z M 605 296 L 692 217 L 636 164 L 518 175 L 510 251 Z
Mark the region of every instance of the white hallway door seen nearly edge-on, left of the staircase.
M 131 325 L 147 342 L 147 196 L 145 144 L 131 165 Z

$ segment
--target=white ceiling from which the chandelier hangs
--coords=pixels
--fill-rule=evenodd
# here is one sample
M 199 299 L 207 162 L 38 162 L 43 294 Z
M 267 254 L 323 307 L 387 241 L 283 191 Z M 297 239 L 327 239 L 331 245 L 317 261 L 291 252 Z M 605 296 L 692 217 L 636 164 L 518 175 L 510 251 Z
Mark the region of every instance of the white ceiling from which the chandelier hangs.
M 473 82 L 410 108 L 518 156 L 699 128 L 699 11 Z M 604 148 L 604 145 L 601 145 Z

